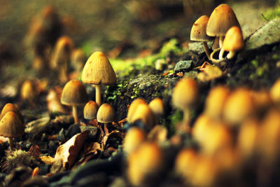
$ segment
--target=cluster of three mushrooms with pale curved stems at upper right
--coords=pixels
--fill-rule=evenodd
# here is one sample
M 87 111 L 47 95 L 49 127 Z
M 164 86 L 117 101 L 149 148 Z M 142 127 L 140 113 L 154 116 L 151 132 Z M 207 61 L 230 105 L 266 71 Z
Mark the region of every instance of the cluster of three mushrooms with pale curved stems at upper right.
M 190 40 L 202 41 L 208 59 L 214 64 L 232 59 L 238 50 L 244 48 L 239 22 L 234 11 L 227 4 L 217 6 L 210 17 L 202 15 L 198 18 L 191 29 Z M 213 52 L 210 53 L 207 41 L 213 40 Z M 218 51 L 218 59 L 215 59 L 214 54 Z M 223 57 L 225 51 L 229 53 Z

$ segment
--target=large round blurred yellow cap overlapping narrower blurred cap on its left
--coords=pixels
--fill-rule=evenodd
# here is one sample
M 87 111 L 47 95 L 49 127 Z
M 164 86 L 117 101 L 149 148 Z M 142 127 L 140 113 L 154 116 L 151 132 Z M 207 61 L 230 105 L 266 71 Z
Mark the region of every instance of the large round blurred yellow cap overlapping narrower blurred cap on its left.
M 225 102 L 223 118 L 231 125 L 238 125 L 254 112 L 255 105 L 251 91 L 239 88 L 230 94 Z

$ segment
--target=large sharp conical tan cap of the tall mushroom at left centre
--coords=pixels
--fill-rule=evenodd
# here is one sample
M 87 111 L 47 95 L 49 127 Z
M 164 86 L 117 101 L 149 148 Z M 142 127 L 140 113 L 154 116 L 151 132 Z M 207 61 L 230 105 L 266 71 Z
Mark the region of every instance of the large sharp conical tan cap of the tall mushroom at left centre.
M 85 62 L 82 81 L 94 85 L 113 85 L 117 77 L 109 59 L 102 52 L 93 53 Z

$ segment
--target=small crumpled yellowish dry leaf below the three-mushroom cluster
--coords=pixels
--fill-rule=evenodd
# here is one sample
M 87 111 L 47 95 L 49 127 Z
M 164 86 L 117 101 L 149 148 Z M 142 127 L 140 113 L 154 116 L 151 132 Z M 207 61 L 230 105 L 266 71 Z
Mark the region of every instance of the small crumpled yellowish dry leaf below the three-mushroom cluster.
M 203 71 L 197 75 L 197 78 L 202 82 L 211 81 L 214 78 L 219 78 L 223 75 L 222 70 L 219 67 L 207 65 L 203 68 Z

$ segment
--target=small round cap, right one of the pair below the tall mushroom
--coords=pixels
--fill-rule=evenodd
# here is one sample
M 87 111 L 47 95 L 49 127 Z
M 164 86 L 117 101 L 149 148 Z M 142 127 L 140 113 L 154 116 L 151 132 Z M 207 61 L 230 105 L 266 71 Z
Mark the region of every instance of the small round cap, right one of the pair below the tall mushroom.
M 97 121 L 99 123 L 111 123 L 115 120 L 115 110 L 108 103 L 102 104 L 97 111 Z

